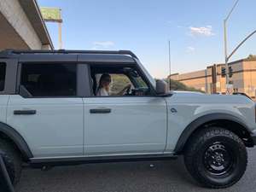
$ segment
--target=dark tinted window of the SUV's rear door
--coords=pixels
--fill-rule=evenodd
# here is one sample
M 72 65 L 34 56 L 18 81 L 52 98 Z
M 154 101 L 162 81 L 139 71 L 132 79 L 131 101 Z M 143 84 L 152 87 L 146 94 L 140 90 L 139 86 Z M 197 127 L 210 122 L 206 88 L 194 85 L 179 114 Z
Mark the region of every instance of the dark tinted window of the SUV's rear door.
M 77 65 L 22 64 L 20 85 L 31 96 L 77 96 Z

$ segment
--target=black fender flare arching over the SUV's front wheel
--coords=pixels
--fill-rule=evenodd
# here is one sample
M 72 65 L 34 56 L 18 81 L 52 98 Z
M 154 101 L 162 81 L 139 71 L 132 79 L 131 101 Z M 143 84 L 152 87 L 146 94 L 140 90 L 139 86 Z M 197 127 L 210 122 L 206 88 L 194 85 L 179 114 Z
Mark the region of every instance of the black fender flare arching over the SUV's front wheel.
M 249 129 L 247 128 L 246 123 L 231 114 L 228 113 L 212 113 L 212 114 L 206 114 L 203 115 L 201 117 L 199 117 L 198 119 L 195 119 L 194 121 L 192 121 L 182 132 L 182 134 L 180 135 L 180 137 L 177 140 L 177 144 L 176 147 L 174 149 L 174 152 L 179 154 L 181 151 L 183 151 L 183 147 L 185 146 L 185 143 L 188 141 L 190 135 L 201 125 L 206 124 L 207 122 L 210 122 L 212 120 L 230 120 L 233 121 L 239 125 L 241 125 L 244 128 L 244 131 L 247 131 L 248 133 L 250 133 L 251 131 L 249 131 Z

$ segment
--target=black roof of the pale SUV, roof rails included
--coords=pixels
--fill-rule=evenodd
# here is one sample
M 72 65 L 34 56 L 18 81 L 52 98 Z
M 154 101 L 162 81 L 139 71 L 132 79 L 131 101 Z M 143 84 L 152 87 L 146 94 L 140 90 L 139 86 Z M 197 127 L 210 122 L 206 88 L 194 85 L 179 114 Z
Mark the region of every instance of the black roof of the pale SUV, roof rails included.
M 18 59 L 20 62 L 92 62 L 92 63 L 137 63 L 137 55 L 130 50 L 17 50 L 6 49 L 0 58 Z

